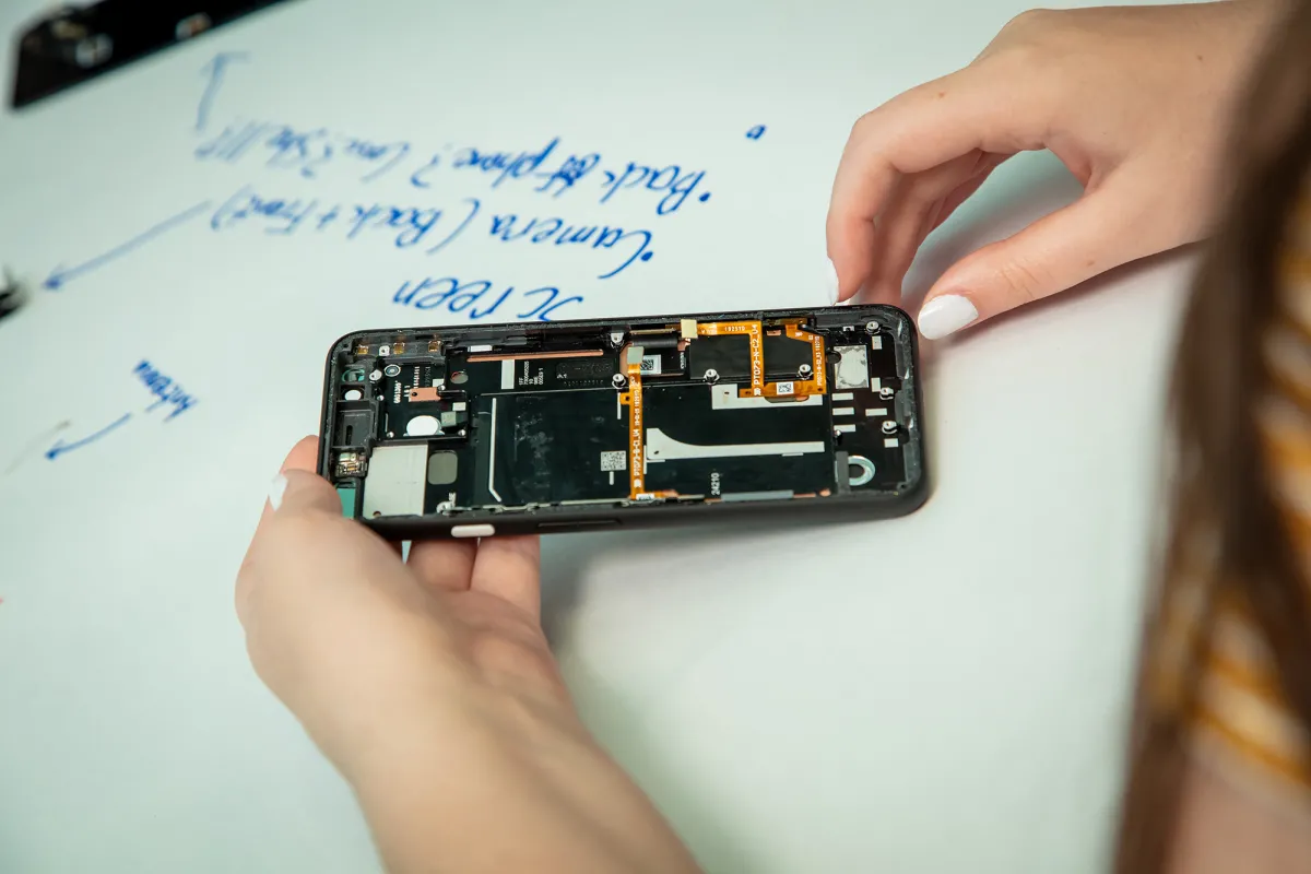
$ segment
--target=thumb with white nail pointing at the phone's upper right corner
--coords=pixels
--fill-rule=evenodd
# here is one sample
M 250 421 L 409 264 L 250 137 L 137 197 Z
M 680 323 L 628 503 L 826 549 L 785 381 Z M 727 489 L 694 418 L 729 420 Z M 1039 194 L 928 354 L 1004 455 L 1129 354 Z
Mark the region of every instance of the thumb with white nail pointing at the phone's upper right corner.
M 920 334 L 945 337 L 1151 254 L 1147 235 L 1126 220 L 1137 207 L 1108 185 L 966 256 L 926 295 Z

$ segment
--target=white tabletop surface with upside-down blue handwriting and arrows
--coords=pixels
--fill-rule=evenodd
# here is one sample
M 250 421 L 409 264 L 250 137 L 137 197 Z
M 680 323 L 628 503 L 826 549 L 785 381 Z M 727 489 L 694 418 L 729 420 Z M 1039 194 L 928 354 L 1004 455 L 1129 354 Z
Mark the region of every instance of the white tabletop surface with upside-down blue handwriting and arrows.
M 329 343 L 821 303 L 851 123 L 1020 9 L 296 1 L 0 115 L 0 870 L 378 870 L 232 611 Z M 909 294 L 1076 194 L 1012 161 Z M 708 870 L 1100 870 L 1188 267 L 927 349 L 907 519 L 548 539 L 585 719 Z

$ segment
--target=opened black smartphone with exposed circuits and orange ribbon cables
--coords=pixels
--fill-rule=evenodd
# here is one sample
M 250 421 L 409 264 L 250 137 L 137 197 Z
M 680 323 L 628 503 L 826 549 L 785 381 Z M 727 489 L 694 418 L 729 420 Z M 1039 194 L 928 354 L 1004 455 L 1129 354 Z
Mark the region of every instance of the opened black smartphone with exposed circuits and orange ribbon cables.
M 357 332 L 320 473 L 399 540 L 897 516 L 927 495 L 918 368 L 882 305 Z

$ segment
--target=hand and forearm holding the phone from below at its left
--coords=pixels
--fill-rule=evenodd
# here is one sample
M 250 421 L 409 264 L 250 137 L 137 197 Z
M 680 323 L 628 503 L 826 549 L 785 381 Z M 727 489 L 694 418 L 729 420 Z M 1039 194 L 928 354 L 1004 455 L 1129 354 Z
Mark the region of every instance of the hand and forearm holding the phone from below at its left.
M 261 679 L 351 784 L 388 870 L 695 871 L 578 718 L 540 624 L 536 537 L 409 562 L 296 444 L 236 584 Z

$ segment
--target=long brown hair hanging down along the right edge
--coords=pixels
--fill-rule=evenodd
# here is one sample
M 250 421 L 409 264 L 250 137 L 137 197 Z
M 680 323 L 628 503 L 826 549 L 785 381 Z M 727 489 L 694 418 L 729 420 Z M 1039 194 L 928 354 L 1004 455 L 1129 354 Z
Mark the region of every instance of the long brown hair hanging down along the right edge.
M 1256 427 L 1256 405 L 1270 385 L 1261 343 L 1277 317 L 1280 252 L 1311 170 L 1311 0 L 1289 5 L 1236 119 L 1228 162 L 1236 176 L 1194 282 L 1175 363 L 1173 523 L 1158 616 L 1143 646 L 1118 874 L 1159 874 L 1169 861 L 1186 718 L 1218 596 L 1234 595 L 1251 608 L 1294 717 L 1311 727 L 1311 590 L 1272 499 Z M 1162 646 L 1160 613 L 1190 563 L 1197 532 L 1211 539 L 1215 557 L 1202 580 L 1200 633 L 1180 677 L 1180 706 L 1155 706 L 1148 672 Z

